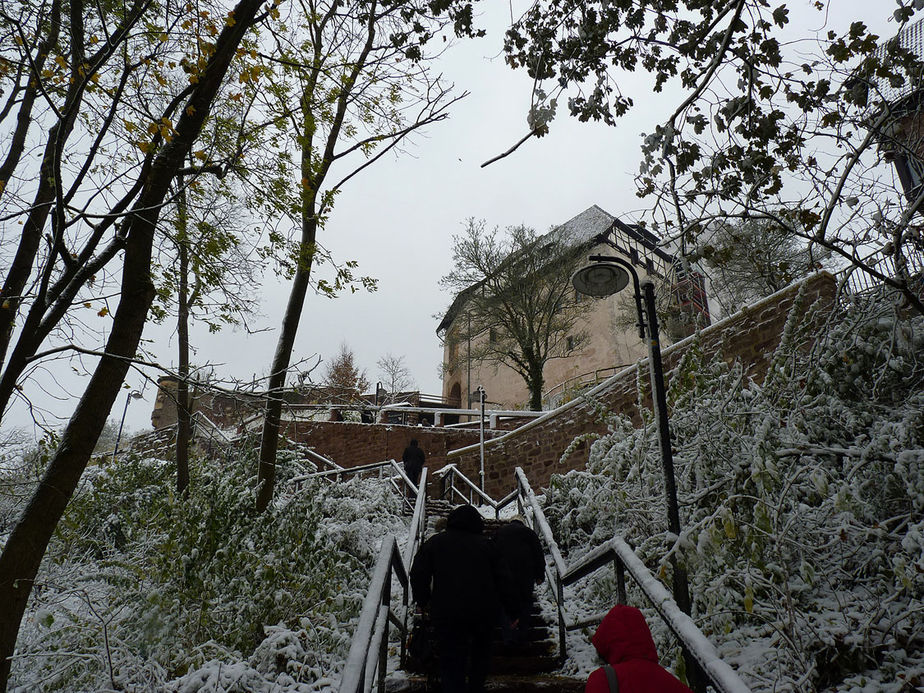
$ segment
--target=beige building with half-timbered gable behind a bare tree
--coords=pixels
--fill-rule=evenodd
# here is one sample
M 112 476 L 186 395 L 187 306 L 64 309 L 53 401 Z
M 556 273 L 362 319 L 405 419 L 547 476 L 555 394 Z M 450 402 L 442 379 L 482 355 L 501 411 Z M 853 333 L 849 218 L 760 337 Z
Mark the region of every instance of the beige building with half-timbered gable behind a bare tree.
M 647 276 L 668 283 L 672 290 L 671 303 L 680 309 L 675 317 L 685 316 L 683 322 L 690 326 L 686 330 L 680 326 L 679 330 L 674 330 L 675 334 L 689 334 L 693 325 L 709 323 L 702 276 L 695 272 L 684 273 L 675 258 L 658 247 L 659 239 L 645 229 L 626 224 L 594 205 L 550 233 L 559 234 L 569 245 L 584 247 L 587 255 L 618 252 L 638 268 L 641 278 Z M 618 251 L 607 241 L 614 243 Z M 594 305 L 581 318 L 577 331 L 586 332 L 589 339 L 584 348 L 573 355 L 546 363 L 544 408 L 567 401 L 580 387 L 609 377 L 615 370 L 647 354 L 631 317 L 626 319 L 627 315 L 634 315 L 631 293 L 627 290 L 605 299 L 583 298 L 594 301 Z M 472 348 L 472 342 L 460 337 L 465 331 L 465 294 L 463 291 L 455 297 L 437 328 L 443 336 L 443 362 L 446 364 L 443 397 L 453 406 L 477 406 L 475 390 L 481 385 L 492 407 L 524 407 L 529 394 L 523 378 L 506 365 L 479 362 L 471 355 L 472 351 L 477 351 Z M 696 321 L 692 319 L 694 316 Z M 663 316 L 662 321 L 664 317 L 667 316 Z M 474 340 L 488 338 L 488 335 L 478 335 Z

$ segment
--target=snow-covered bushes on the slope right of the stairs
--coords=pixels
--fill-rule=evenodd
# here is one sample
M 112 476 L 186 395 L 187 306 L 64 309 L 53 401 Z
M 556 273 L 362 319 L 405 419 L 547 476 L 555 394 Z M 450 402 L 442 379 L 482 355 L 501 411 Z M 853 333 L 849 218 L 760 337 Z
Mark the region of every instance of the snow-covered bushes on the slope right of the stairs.
M 669 585 L 676 552 L 700 627 L 754 690 L 920 685 L 924 319 L 855 306 L 812 344 L 806 313 L 761 385 L 695 345 L 672 377 L 678 540 L 650 412 L 640 429 L 612 417 L 546 511 L 573 557 L 619 533 Z M 613 577 L 580 594 L 607 608 Z

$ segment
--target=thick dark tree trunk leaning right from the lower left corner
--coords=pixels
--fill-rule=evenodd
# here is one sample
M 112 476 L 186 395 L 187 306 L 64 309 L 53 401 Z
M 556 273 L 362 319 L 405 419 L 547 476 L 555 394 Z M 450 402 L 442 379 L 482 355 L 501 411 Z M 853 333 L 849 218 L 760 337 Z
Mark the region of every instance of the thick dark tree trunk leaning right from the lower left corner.
M 154 299 L 151 281 L 154 230 L 170 181 L 202 130 L 235 51 L 263 2 L 265 0 L 241 0 L 235 6 L 232 16 L 236 21 L 222 29 L 215 52 L 177 123 L 176 136 L 148 169 L 144 190 L 127 217 L 121 299 L 106 343 L 106 355 L 99 360 L 42 481 L 0 553 L 2 690 L 9 681 L 19 625 L 48 542 L 90 460 L 125 379 L 128 359 L 135 356 L 141 341 L 147 312 Z

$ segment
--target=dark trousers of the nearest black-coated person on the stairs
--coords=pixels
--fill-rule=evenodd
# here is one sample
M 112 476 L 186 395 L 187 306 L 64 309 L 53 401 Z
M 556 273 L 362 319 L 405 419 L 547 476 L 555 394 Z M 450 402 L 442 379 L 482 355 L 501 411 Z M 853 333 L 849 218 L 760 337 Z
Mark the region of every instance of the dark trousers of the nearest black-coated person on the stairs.
M 481 693 L 491 659 L 492 624 L 434 625 L 443 693 Z

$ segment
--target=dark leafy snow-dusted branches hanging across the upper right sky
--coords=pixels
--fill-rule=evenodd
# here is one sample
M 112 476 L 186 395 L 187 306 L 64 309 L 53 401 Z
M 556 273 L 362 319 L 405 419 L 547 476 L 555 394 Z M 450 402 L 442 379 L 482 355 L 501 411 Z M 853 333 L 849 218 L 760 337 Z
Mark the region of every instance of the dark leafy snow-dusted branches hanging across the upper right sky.
M 843 14 L 830 0 L 535 0 L 506 57 L 535 80 L 530 136 L 565 101 L 615 126 L 636 70 L 681 95 L 645 136 L 636 178 L 662 236 L 692 250 L 713 220 L 762 220 L 924 313 L 924 6 L 896 4 L 867 4 L 894 22 L 879 36 L 861 17 L 814 30 Z M 802 11 L 818 22 L 791 23 Z

